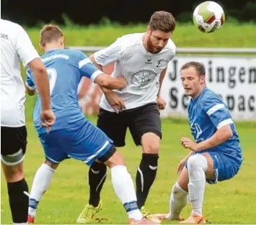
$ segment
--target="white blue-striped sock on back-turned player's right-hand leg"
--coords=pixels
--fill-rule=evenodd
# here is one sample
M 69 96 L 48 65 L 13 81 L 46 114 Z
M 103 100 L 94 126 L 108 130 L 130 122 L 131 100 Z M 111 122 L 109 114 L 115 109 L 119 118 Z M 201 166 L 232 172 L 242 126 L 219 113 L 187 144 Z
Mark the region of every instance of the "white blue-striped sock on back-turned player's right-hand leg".
M 111 180 L 115 193 L 125 207 L 128 217 L 141 220 L 143 216 L 137 206 L 133 179 L 125 165 L 117 165 L 111 168 Z

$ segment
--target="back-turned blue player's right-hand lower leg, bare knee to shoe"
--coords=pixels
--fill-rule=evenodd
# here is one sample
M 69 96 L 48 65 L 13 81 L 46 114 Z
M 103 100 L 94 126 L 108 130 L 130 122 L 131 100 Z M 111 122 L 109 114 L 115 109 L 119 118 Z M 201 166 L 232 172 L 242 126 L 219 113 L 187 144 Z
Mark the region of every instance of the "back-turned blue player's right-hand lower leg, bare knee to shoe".
M 137 198 L 133 186 L 133 179 L 128 173 L 125 162 L 120 153 L 115 152 L 109 160 L 105 162 L 111 170 L 111 181 L 116 195 L 123 203 L 128 214 L 129 224 L 158 224 L 144 218 L 137 205 Z

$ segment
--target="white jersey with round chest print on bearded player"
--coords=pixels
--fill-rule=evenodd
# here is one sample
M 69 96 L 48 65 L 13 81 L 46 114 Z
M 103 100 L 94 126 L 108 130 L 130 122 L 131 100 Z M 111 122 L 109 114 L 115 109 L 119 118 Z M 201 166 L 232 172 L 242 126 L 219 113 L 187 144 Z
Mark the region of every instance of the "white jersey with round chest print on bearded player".
M 125 101 L 126 109 L 133 109 L 156 102 L 159 92 L 159 76 L 172 58 L 176 46 L 172 40 L 157 54 L 146 51 L 143 45 L 144 33 L 119 37 L 112 45 L 94 53 L 96 63 L 108 65 L 115 63 L 113 77 L 124 75 L 128 85 L 114 90 Z M 100 107 L 114 111 L 102 95 Z

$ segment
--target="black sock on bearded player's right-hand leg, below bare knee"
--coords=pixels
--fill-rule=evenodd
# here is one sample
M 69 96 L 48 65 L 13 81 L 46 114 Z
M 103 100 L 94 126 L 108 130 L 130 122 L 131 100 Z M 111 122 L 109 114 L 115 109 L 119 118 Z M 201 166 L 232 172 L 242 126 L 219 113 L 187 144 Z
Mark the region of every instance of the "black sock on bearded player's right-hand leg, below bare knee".
M 149 189 L 156 178 L 158 154 L 142 154 L 141 164 L 136 175 L 136 195 L 138 208 L 144 206 Z

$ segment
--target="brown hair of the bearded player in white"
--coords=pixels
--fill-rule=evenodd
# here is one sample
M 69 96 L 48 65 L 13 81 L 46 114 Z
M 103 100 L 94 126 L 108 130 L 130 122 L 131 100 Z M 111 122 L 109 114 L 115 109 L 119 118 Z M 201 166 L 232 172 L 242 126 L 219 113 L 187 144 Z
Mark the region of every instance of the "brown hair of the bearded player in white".
M 151 30 L 161 30 L 163 32 L 173 32 L 175 30 L 175 17 L 169 12 L 157 11 L 149 20 Z

